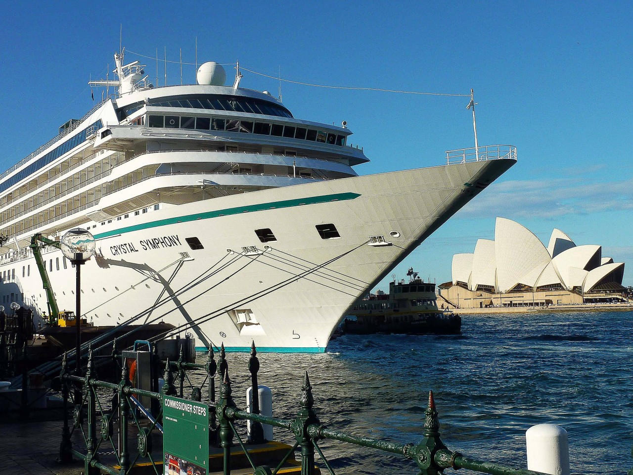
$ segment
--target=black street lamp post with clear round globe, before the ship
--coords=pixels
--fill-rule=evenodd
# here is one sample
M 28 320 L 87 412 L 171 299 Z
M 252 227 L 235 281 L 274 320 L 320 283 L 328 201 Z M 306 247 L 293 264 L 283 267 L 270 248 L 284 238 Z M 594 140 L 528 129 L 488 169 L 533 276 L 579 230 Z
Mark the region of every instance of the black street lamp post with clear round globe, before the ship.
M 75 328 L 77 328 L 77 376 L 81 376 L 81 266 L 94 255 L 94 238 L 85 229 L 71 229 L 61 238 L 61 252 L 75 266 Z

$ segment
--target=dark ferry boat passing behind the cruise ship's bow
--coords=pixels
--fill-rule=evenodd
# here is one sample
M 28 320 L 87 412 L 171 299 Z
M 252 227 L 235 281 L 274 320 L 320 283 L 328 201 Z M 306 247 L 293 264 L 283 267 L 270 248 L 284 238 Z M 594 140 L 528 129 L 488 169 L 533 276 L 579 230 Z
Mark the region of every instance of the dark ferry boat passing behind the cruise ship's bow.
M 461 317 L 437 308 L 436 284 L 409 269 L 410 279 L 389 283 L 389 293 L 370 294 L 350 310 L 342 333 L 396 333 L 409 335 L 459 334 Z

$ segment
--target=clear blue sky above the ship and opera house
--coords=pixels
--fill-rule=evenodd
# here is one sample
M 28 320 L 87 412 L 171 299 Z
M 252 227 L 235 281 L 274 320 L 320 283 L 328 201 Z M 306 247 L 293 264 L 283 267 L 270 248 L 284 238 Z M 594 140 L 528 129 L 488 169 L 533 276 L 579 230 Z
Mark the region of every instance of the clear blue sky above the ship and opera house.
M 233 63 L 292 80 L 468 94 L 479 144 L 512 144 L 518 163 L 396 269 L 438 282 L 454 253 L 514 219 L 547 245 L 552 229 L 601 244 L 633 285 L 630 2 L 85 2 L 3 3 L 0 168 L 6 169 L 92 106 L 87 81 L 113 53 Z M 141 59 L 128 53 L 127 60 Z M 156 62 L 144 60 L 150 78 Z M 194 80 L 184 66 L 184 82 Z M 180 66 L 168 65 L 168 82 Z M 233 75 L 227 66 L 227 76 Z M 163 65 L 159 67 L 163 84 Z M 277 80 L 244 73 L 242 87 L 277 94 Z M 101 92 L 94 91 L 100 98 Z M 360 174 L 441 165 L 473 146 L 467 98 L 282 84 L 295 117 L 348 121 L 372 162 Z M 385 286 L 382 286 L 385 288 Z

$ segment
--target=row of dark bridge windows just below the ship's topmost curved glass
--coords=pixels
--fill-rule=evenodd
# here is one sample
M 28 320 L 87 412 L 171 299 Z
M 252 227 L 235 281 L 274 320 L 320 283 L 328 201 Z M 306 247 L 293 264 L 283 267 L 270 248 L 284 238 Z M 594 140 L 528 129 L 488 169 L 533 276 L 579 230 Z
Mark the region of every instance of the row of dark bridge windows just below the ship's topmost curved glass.
M 324 130 L 295 127 L 294 125 L 268 124 L 250 120 L 225 120 L 210 117 L 180 117 L 177 115 L 150 115 L 149 127 L 168 127 L 170 129 L 220 130 L 225 132 L 242 132 L 263 136 L 286 137 L 288 139 L 309 140 L 344 146 L 346 136 L 332 134 Z

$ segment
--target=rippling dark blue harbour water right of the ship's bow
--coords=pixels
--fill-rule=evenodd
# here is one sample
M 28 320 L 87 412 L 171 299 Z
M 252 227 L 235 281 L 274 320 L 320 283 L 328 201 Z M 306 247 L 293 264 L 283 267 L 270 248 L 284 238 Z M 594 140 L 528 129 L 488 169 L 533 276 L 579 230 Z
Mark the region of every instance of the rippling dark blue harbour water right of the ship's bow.
M 258 356 L 277 417 L 296 414 L 307 370 L 332 429 L 417 443 L 433 390 L 451 450 L 525 468 L 525 431 L 548 422 L 568 431 L 572 473 L 633 466 L 633 312 L 468 315 L 461 336 L 346 335 L 324 354 Z M 229 355 L 241 407 L 247 359 Z M 416 473 L 396 456 L 324 446 L 337 474 Z

